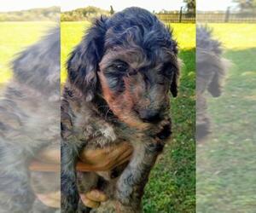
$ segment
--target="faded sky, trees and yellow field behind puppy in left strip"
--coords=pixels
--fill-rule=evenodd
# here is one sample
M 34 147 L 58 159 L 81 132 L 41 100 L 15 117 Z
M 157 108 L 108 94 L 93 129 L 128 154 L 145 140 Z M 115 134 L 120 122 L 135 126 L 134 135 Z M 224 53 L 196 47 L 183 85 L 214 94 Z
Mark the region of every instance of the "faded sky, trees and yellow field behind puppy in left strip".
M 0 87 L 12 76 L 10 61 L 58 24 L 60 1 L 9 0 L 0 5 Z

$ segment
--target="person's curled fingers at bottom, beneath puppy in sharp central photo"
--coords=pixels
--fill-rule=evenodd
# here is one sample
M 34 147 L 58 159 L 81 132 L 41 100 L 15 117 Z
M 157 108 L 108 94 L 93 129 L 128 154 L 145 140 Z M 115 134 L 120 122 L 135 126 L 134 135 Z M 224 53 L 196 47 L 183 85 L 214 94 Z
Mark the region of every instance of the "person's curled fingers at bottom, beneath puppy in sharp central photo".
M 80 194 L 80 198 L 84 205 L 92 209 L 96 209 L 100 206 L 101 202 L 108 200 L 108 197 L 105 193 L 102 193 L 99 190 L 91 190 L 89 193 Z

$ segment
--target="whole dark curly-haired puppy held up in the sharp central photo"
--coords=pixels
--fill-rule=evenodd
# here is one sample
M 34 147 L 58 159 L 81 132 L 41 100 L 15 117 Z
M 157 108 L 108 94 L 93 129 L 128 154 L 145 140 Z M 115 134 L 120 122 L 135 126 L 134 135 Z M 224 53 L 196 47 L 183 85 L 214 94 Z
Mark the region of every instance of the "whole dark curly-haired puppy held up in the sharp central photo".
M 61 210 L 77 212 L 79 193 L 99 188 L 119 212 L 141 212 L 148 174 L 171 135 L 170 91 L 177 95 L 177 43 L 145 9 L 100 18 L 67 61 L 61 101 Z M 82 149 L 129 141 L 125 170 L 76 173 Z M 79 186 L 79 187 L 77 187 Z M 80 203 L 81 204 L 81 203 Z M 80 205 L 79 212 L 90 209 Z

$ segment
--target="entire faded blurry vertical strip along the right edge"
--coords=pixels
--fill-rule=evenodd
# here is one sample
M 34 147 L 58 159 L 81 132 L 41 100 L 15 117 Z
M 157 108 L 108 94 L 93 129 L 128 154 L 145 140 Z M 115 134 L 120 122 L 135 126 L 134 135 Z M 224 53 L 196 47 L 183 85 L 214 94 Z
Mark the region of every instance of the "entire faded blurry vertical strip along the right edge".
M 203 11 L 206 1 L 197 2 L 197 212 L 255 212 L 256 2 Z

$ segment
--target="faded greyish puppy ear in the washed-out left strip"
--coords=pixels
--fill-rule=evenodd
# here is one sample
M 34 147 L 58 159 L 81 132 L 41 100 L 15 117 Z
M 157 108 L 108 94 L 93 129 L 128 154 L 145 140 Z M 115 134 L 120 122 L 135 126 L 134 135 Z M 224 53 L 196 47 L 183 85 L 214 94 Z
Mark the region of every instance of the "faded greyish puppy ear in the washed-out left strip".
M 15 57 L 12 63 L 15 80 L 42 95 L 59 96 L 60 51 L 60 27 L 56 26 Z

